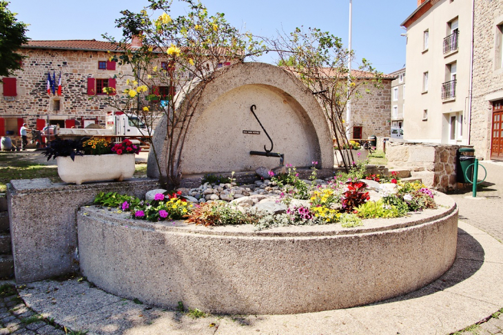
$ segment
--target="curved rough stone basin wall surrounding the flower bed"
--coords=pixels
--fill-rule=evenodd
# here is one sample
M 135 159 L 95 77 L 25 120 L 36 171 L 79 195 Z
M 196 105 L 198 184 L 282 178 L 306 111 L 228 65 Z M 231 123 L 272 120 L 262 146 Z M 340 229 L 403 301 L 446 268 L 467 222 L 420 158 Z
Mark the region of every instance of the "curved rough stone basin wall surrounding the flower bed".
M 149 223 L 83 207 L 80 266 L 101 289 L 216 314 L 293 314 L 365 305 L 418 290 L 454 262 L 458 207 L 398 219 L 276 227 Z

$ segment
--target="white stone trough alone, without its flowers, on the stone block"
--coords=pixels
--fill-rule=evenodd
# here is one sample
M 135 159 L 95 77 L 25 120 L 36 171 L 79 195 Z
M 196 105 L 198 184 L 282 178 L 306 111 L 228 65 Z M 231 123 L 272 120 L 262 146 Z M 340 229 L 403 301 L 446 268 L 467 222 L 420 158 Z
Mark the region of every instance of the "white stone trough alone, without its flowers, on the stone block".
M 80 185 L 86 181 L 123 181 L 134 174 L 134 154 L 102 154 L 57 157 L 58 174 L 65 183 Z

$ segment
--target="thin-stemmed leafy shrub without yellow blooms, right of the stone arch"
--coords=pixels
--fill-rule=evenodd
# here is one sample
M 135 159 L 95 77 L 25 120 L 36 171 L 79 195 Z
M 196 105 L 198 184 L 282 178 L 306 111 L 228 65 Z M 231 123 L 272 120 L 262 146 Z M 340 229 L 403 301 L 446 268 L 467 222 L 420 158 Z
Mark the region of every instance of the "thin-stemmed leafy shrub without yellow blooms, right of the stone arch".
M 369 72 L 371 76 L 358 78 L 349 74 L 347 64 L 354 58 L 353 51 L 345 49 L 340 38 L 316 28 L 309 28 L 307 32 L 296 28 L 268 42 L 271 49 L 278 52 L 278 65 L 298 77 L 315 94 L 347 169 L 354 159 L 345 130 L 346 122 L 351 120 L 344 120 L 343 113 L 351 99 L 370 93 L 369 85 L 382 88 L 382 73 L 362 59 L 358 70 Z

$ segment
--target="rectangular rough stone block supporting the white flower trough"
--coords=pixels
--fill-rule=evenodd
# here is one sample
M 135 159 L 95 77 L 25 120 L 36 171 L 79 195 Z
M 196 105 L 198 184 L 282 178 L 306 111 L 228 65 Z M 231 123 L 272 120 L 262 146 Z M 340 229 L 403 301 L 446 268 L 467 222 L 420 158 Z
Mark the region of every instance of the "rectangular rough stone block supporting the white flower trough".
M 158 187 L 152 179 L 122 183 L 67 185 L 48 179 L 13 180 L 8 184 L 12 255 L 18 283 L 37 281 L 79 269 L 75 215 L 99 192 L 143 197 Z

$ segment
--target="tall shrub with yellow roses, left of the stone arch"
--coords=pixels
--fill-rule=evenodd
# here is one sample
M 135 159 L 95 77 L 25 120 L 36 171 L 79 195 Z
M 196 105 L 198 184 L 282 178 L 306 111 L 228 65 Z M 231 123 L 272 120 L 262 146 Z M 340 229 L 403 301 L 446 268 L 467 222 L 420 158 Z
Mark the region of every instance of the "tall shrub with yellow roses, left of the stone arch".
M 150 129 L 155 119 L 165 116 L 164 127 L 157 128 L 165 132 L 165 152 L 152 141 L 150 145 L 161 184 L 171 190 L 181 181 L 183 143 L 201 94 L 227 71 L 223 64 L 243 62 L 264 48 L 251 34 L 229 25 L 224 14 L 210 16 L 199 1 L 179 0 L 187 5 L 187 14 L 176 18 L 168 14 L 172 1 L 148 1 L 150 5 L 139 13 L 121 12 L 123 17 L 116 20 L 123 30 L 120 41 L 104 35 L 118 50 L 125 50 L 111 59 L 130 65 L 131 70 L 119 74 L 129 77 L 126 90 L 114 94 L 112 88 L 105 88 L 104 92 L 112 107 L 135 114 Z M 133 37 L 141 39 L 140 48 L 127 47 Z

